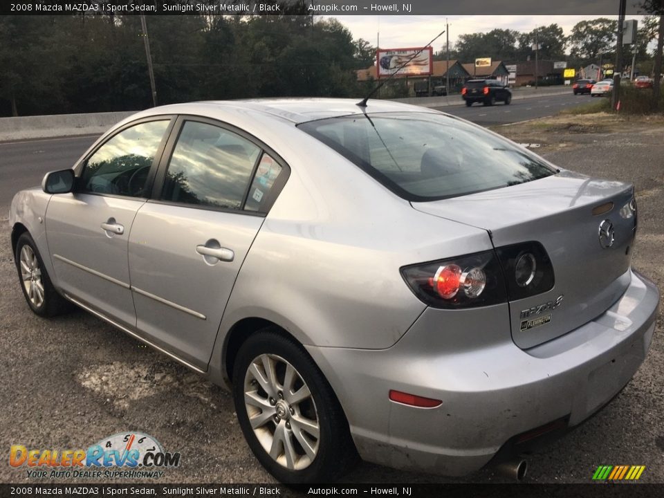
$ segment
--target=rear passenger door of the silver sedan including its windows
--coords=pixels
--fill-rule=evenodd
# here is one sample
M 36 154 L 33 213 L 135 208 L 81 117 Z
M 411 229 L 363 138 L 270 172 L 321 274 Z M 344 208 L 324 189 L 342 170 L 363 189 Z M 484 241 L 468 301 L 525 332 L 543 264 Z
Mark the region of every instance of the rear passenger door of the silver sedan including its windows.
M 286 165 L 255 139 L 178 118 L 153 199 L 136 215 L 129 270 L 138 329 L 207 368 L 237 274 Z

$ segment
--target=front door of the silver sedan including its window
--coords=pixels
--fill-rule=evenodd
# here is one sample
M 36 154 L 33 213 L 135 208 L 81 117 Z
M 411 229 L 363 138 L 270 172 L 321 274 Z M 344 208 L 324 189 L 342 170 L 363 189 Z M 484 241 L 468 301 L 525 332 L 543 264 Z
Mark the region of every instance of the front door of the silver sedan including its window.
M 95 149 L 75 192 L 55 194 L 46 237 L 57 282 L 70 297 L 136 325 L 127 241 L 165 146 L 170 116 L 128 124 Z

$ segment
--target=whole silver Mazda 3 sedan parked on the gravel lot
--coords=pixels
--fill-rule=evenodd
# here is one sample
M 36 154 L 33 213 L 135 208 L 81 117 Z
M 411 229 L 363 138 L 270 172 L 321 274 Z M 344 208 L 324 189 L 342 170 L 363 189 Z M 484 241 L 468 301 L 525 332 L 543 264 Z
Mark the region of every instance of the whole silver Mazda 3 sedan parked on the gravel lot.
M 232 389 L 284 482 L 356 454 L 466 474 L 584 421 L 652 341 L 637 219 L 631 185 L 331 99 L 142 111 L 10 214 L 35 313 L 77 304 Z

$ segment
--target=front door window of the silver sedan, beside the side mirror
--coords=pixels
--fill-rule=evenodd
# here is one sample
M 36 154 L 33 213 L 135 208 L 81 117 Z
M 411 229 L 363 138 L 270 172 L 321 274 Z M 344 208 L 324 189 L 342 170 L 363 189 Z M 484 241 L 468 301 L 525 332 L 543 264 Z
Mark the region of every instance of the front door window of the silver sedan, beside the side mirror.
M 146 183 L 169 120 L 136 124 L 120 131 L 87 160 L 82 192 L 147 196 Z

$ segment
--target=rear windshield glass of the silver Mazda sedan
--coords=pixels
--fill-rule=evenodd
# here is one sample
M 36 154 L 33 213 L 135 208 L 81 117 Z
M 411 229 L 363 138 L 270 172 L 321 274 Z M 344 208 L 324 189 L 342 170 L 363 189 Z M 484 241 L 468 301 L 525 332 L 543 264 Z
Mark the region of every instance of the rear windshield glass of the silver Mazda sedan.
M 298 127 L 409 201 L 447 199 L 556 172 L 507 140 L 443 114 L 365 114 Z

